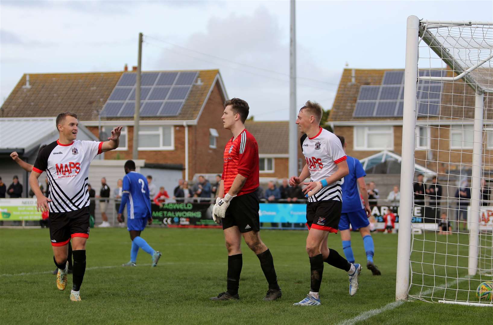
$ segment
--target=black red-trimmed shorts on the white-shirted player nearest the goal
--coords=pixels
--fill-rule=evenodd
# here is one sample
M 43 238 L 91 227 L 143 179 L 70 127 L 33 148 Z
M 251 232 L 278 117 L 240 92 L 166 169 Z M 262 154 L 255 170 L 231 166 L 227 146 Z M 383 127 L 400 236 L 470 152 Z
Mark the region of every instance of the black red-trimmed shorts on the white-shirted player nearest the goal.
M 337 234 L 342 203 L 327 200 L 307 203 L 307 227 Z

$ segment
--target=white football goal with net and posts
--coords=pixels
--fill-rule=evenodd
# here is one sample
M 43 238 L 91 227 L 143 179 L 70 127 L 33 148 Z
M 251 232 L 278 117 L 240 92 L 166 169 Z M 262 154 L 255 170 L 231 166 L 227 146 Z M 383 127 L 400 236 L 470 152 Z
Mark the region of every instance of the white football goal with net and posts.
M 492 58 L 491 22 L 408 18 L 397 299 L 493 307 Z

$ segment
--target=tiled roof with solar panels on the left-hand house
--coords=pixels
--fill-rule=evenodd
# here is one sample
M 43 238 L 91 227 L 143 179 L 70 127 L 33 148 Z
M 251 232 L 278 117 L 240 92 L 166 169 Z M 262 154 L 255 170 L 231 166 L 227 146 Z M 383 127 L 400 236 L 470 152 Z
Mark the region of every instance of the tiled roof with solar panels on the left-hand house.
M 73 111 L 79 121 L 97 121 L 100 112 L 102 120 L 133 120 L 128 108 L 131 103 L 135 105 L 136 74 L 133 71 L 24 74 L 3 103 L 0 117 L 46 117 Z M 197 120 L 216 84 L 227 98 L 217 69 L 142 71 L 141 79 L 142 102 L 148 95 L 148 103 L 141 105 L 141 120 Z M 158 102 L 161 110 L 157 108 Z M 106 107 L 109 104 L 113 105 L 109 107 L 112 109 Z M 116 110 L 118 104 L 121 107 Z M 165 111 L 171 113 L 161 114 Z

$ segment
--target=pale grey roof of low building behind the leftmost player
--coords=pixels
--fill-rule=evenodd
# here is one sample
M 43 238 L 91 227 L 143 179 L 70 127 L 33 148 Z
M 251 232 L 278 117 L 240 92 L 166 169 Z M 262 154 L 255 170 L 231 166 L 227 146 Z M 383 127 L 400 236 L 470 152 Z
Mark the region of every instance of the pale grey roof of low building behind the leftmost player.
M 20 155 L 37 150 L 41 144 L 58 138 L 56 118 L 0 118 L 0 153 L 17 151 Z M 79 124 L 81 140 L 98 140 L 91 131 Z

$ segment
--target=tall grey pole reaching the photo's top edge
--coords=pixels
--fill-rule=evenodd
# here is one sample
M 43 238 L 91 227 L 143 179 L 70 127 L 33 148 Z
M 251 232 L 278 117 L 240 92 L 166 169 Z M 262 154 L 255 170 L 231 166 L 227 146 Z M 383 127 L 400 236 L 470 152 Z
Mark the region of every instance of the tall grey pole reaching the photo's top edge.
M 298 128 L 296 127 L 296 10 L 291 0 L 291 29 L 289 46 L 289 177 L 298 176 Z

